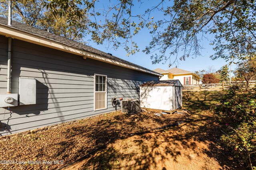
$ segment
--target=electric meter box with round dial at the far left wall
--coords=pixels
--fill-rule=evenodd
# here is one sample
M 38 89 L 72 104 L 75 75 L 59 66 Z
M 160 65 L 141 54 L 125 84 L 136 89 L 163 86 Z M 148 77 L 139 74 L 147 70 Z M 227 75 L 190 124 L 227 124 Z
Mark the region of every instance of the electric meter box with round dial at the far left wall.
M 0 94 L 0 107 L 18 106 L 18 94 Z

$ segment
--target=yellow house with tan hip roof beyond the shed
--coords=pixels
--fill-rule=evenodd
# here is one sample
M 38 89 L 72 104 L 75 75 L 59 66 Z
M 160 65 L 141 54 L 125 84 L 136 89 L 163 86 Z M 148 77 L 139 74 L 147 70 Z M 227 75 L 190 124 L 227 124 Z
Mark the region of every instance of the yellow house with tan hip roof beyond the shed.
M 180 68 L 170 68 L 168 70 L 156 68 L 153 71 L 164 75 L 160 77 L 160 80 L 180 80 L 182 85 L 197 85 L 200 82 L 200 77 L 197 74 Z

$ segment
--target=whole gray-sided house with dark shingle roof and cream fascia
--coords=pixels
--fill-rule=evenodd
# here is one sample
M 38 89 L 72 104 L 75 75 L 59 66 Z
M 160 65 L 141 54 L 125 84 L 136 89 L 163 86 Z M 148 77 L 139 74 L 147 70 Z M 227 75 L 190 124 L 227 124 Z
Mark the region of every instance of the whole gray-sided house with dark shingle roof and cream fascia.
M 140 84 L 161 76 L 42 29 L 7 22 L 0 17 L 0 99 L 7 92 L 8 37 L 12 37 L 11 94 L 21 95 L 20 77 L 34 78 L 36 101 L 19 101 L 9 109 L 0 106 L 0 135 L 114 111 L 114 96 L 139 99 Z

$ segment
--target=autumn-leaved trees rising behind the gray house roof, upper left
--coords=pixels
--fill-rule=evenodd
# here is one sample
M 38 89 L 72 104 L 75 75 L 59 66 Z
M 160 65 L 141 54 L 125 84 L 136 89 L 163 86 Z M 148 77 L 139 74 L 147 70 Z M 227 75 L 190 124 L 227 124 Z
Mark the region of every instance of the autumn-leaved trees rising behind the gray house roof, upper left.
M 8 0 L 1 0 L 1 2 L 0 14 L 4 16 Z M 62 1 L 62 6 L 58 6 L 47 0 L 13 1 L 13 18 L 68 39 L 84 42 L 90 20 L 87 14 L 77 7 L 81 3 L 80 0 Z M 76 9 L 73 8 L 75 6 Z

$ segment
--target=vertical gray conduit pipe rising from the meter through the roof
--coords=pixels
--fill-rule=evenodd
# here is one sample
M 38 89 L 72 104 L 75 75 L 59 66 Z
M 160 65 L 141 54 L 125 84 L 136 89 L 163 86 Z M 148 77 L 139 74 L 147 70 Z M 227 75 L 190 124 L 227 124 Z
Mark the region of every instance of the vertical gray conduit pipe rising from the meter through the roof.
M 12 26 L 12 0 L 8 2 L 8 25 Z M 8 37 L 7 94 L 11 93 L 12 38 Z

